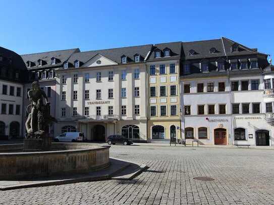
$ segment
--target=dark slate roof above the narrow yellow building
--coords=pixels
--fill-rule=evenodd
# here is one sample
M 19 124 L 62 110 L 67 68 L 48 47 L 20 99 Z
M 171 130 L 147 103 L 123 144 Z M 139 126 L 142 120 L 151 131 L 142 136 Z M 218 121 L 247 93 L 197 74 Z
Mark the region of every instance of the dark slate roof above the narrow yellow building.
M 171 50 L 169 57 L 156 57 L 154 56 L 154 51 L 159 49 L 161 52 L 165 48 L 169 48 Z M 182 42 L 170 42 L 170 43 L 159 43 L 155 44 L 152 47 L 152 50 L 147 58 L 147 61 L 156 61 L 156 60 L 174 60 L 174 59 L 180 59 L 181 58 L 181 52 L 182 52 Z

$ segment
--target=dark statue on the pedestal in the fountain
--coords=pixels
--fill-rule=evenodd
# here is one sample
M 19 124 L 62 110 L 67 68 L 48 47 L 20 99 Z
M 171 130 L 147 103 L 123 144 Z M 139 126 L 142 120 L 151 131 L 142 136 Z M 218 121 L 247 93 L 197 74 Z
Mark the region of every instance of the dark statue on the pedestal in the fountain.
M 56 120 L 50 116 L 50 103 L 37 81 L 32 83 L 28 97 L 30 104 L 27 106 L 26 138 L 42 138 L 48 133 L 49 123 Z

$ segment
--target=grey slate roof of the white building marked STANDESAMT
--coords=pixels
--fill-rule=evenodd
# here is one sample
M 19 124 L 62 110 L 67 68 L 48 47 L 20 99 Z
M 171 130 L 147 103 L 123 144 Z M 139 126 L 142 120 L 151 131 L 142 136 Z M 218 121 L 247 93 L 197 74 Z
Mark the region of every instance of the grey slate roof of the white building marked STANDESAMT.
M 148 45 L 139 45 L 139 46 L 130 46 L 122 48 L 110 48 L 103 50 L 91 50 L 84 51 L 79 53 L 74 53 L 68 60 L 69 63 L 74 64 L 75 60 L 79 60 L 82 65 L 84 65 L 88 60 L 94 57 L 97 54 L 101 54 L 118 64 L 122 64 L 121 57 L 123 55 L 128 57 L 128 63 L 134 62 L 134 55 L 139 54 L 141 56 L 141 61 L 144 60 L 147 53 L 150 51 L 152 44 Z M 81 65 L 80 64 L 80 65 Z

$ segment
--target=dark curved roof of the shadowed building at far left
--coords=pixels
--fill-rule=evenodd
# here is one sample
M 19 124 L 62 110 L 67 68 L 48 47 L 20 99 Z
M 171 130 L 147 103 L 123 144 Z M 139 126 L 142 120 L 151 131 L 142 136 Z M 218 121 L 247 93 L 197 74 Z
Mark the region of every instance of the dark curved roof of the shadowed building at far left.
M 3 61 L 0 62 L 0 69 L 1 67 L 8 65 L 8 67 L 11 66 L 14 70 L 26 70 L 26 64 L 22 57 L 16 52 L 0 47 L 0 56 L 4 58 Z M 9 59 L 11 59 L 11 63 L 9 62 Z

